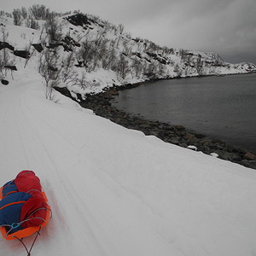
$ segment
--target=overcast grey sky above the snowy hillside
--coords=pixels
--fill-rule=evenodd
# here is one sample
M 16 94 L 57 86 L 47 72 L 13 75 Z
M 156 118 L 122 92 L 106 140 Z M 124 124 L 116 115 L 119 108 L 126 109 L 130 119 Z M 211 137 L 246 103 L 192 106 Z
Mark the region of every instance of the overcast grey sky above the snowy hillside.
M 98 15 L 161 46 L 213 51 L 231 63 L 256 64 L 256 0 L 0 0 L 11 12 L 34 3 Z

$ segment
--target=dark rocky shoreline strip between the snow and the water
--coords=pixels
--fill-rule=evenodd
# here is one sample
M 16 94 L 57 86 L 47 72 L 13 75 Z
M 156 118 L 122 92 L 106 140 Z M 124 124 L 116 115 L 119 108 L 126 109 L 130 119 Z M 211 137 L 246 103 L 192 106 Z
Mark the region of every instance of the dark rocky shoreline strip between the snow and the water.
M 85 101 L 78 95 L 79 104 L 83 108 L 90 108 L 96 115 L 110 119 L 116 124 L 122 125 L 128 129 L 143 131 L 145 135 L 154 135 L 166 143 L 172 143 L 183 148 L 201 151 L 204 154 L 218 154 L 219 159 L 229 160 L 242 166 L 256 169 L 256 155 L 249 152 L 247 149 L 235 148 L 229 143 L 225 143 L 219 139 L 193 133 L 182 125 L 170 125 L 133 116 L 114 108 L 111 105 L 111 101 L 114 96 L 118 95 L 119 90 L 135 88 L 141 84 L 145 83 L 114 86 L 106 89 L 102 93 L 86 96 Z M 55 89 L 60 91 L 63 95 L 73 99 L 67 88 Z

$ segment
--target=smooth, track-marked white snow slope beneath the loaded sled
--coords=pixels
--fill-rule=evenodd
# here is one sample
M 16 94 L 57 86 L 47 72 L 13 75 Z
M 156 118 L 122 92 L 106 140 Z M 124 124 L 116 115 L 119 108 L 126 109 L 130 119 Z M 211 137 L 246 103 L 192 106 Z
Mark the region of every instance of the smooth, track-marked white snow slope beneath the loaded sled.
M 30 169 L 48 195 L 53 218 L 32 255 L 256 253 L 255 170 L 127 130 L 56 92 L 48 101 L 31 70 L 0 85 L 0 166 L 2 183 Z M 0 237 L 0 247 L 26 255 L 20 241 Z

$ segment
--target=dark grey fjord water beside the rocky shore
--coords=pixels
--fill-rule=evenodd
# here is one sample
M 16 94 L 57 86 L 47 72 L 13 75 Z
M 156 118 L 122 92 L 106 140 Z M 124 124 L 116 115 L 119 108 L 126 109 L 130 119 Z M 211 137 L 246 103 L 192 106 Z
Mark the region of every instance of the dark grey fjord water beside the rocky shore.
M 119 91 L 113 106 L 256 153 L 256 74 L 162 80 Z

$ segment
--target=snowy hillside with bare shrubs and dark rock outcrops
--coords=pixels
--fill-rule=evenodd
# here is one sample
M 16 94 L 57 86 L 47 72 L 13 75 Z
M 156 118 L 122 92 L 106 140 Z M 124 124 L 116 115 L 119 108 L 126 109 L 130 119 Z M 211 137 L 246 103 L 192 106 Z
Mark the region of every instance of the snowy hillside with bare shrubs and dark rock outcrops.
M 214 53 L 160 47 L 147 39 L 132 38 L 124 26 L 93 15 L 49 15 L 45 19 L 20 18 L 20 26 L 15 26 L 13 18 L 0 15 L 3 77 L 23 57 L 48 81 L 48 87 L 67 87 L 75 96 L 113 84 L 256 70 L 252 63 L 226 63 Z

